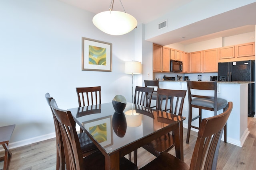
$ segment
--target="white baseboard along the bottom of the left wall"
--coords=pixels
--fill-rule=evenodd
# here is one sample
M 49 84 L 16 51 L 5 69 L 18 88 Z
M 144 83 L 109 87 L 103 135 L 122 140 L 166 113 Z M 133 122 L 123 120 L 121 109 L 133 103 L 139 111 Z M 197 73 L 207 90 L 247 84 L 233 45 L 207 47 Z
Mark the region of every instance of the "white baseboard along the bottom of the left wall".
M 30 145 L 32 143 L 44 141 L 44 140 L 47 140 L 47 139 L 52 139 L 54 137 L 56 137 L 55 133 L 49 133 L 49 134 L 46 134 L 46 135 L 41 135 L 41 136 L 38 136 L 38 137 L 33 137 L 33 138 L 30 138 L 30 139 L 25 139 L 25 140 L 22 140 L 22 141 L 9 143 L 9 149 L 14 149 L 14 148 L 22 147 L 22 146 L 25 146 L 25 145 Z M 3 151 L 3 150 L 4 149 L 1 149 L 0 151 Z

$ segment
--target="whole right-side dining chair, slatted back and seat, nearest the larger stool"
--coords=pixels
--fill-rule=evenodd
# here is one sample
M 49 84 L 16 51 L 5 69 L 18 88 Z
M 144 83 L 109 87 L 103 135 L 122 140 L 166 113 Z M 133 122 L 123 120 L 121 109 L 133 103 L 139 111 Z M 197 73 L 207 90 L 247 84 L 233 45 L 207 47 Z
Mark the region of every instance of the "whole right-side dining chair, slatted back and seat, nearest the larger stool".
M 169 89 L 157 89 L 157 103 L 156 109 L 167 111 L 170 110 L 170 113 L 175 115 L 182 116 L 182 109 L 184 104 L 184 99 L 186 96 L 186 90 L 169 90 Z M 170 98 L 170 102 L 168 101 Z M 159 117 L 168 118 L 168 114 L 163 115 L 163 112 L 160 112 Z M 154 156 L 159 156 L 163 152 L 168 152 L 174 147 L 174 134 L 167 133 L 162 135 L 158 139 L 146 144 L 143 146 L 144 149 L 152 153 Z

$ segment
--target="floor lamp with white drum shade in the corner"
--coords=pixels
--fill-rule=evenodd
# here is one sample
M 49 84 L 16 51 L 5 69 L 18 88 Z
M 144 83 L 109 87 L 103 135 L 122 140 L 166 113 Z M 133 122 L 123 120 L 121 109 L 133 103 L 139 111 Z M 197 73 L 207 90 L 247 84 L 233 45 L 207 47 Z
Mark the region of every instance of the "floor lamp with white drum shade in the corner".
M 138 61 L 127 61 L 124 65 L 124 73 L 132 74 L 132 103 L 133 103 L 133 74 L 141 73 L 141 63 Z

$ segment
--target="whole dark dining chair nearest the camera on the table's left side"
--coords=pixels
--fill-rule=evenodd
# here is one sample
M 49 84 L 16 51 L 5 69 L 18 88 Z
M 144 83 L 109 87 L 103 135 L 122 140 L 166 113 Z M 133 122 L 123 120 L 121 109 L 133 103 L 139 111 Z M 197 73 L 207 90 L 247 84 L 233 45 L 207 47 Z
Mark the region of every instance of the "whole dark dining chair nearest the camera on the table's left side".
M 61 140 L 66 160 L 67 170 L 103 170 L 105 168 L 104 155 L 98 150 L 83 157 L 82 149 L 76 133 L 76 122 L 68 110 L 58 108 L 56 101 L 51 100 L 50 105 L 58 121 Z M 137 170 L 138 167 L 125 157 L 120 158 L 121 170 Z

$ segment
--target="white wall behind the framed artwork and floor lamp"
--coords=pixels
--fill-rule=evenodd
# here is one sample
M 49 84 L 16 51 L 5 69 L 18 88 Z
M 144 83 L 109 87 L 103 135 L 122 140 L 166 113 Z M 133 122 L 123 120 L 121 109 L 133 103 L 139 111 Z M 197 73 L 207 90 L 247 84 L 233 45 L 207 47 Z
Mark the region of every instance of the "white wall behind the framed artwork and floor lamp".
M 54 135 L 46 92 L 62 109 L 78 106 L 76 87 L 101 86 L 102 103 L 131 102 L 124 62 L 134 59 L 134 31 L 107 35 L 94 14 L 56 0 L 1 0 L 0 16 L 0 126 L 16 124 L 11 142 Z M 112 72 L 81 71 L 82 37 L 112 43 Z

